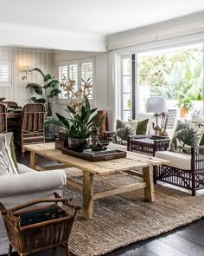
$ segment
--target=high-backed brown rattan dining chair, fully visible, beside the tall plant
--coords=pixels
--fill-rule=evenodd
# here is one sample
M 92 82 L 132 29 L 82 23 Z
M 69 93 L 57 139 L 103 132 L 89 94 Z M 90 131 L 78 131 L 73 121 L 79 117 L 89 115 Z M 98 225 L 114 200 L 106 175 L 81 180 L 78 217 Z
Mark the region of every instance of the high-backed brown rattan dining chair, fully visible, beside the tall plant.
M 45 106 L 41 103 L 29 103 L 22 108 L 20 133 L 17 144 L 35 144 L 45 142 Z M 23 150 L 22 150 L 23 151 Z

